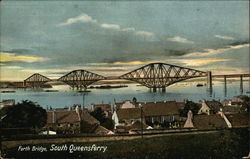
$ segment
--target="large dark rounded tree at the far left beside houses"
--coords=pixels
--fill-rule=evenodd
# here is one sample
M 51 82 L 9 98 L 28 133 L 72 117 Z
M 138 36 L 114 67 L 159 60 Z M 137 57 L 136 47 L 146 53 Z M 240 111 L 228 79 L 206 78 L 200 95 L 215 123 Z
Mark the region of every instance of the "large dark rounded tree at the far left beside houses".
M 3 109 L 2 128 L 41 128 L 47 122 L 46 110 L 32 101 L 25 100 Z

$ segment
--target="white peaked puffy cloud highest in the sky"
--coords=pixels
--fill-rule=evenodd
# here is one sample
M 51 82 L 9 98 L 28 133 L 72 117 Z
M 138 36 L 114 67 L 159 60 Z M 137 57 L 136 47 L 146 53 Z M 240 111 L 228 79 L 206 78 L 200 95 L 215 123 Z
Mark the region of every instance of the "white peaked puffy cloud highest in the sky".
M 93 19 L 91 16 L 85 14 L 85 13 L 82 13 L 81 15 L 75 17 L 75 18 L 69 18 L 67 19 L 66 22 L 64 23 L 61 23 L 59 25 L 70 25 L 70 24 L 73 24 L 73 23 L 77 23 L 77 22 L 85 22 L 85 23 L 97 23 L 97 20 Z

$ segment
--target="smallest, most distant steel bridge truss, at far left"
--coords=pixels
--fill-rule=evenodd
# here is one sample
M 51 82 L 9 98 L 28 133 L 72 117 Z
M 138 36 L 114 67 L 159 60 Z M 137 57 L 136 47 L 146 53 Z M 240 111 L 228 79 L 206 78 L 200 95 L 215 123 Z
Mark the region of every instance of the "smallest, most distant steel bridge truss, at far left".
M 41 87 L 49 81 L 51 81 L 51 79 L 48 77 L 45 77 L 39 73 L 35 73 L 24 80 L 24 86 Z

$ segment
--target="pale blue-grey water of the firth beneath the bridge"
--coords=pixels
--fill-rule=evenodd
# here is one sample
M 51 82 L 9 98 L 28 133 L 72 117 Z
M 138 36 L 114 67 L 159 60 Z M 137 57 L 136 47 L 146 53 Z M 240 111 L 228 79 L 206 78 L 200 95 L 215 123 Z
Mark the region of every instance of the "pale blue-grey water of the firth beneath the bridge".
M 214 82 L 212 94 L 208 92 L 207 87 L 196 87 L 195 82 L 181 82 L 169 86 L 165 92 L 152 92 L 150 89 L 138 86 L 138 84 L 128 84 L 128 87 L 114 89 L 91 89 L 91 92 L 83 93 L 70 89 L 67 85 L 53 86 L 54 90 L 59 92 L 44 92 L 44 90 L 15 89 L 16 93 L 1 93 L 1 101 L 5 99 L 15 99 L 16 102 L 22 100 L 31 100 L 37 102 L 46 108 L 64 108 L 74 104 L 83 104 L 90 108 L 91 104 L 114 103 L 137 98 L 140 102 L 176 100 L 185 99 L 198 102 L 199 100 L 224 100 L 241 94 L 240 82 L 234 81 L 227 84 L 227 94 L 224 91 L 223 82 Z M 249 92 L 249 81 L 244 81 L 243 94 Z M 6 89 L 1 89 L 1 91 Z M 11 89 L 7 89 L 11 90 Z M 13 89 L 12 89 L 13 90 Z M 47 90 L 47 89 L 46 89 Z M 226 95 L 226 96 L 225 96 Z

